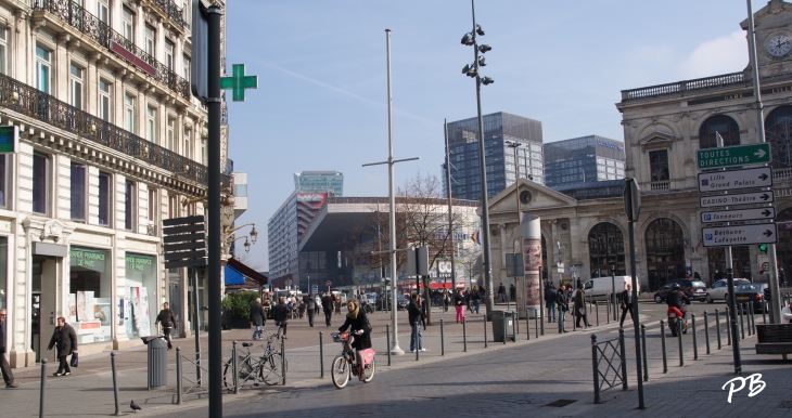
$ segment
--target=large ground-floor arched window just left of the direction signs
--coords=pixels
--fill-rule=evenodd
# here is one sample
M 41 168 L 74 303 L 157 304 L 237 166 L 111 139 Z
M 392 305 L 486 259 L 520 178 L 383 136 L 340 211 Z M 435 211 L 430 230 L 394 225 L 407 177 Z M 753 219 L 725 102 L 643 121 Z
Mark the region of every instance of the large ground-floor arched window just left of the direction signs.
M 678 223 L 667 218 L 655 219 L 647 228 L 646 244 L 649 290 L 685 277 L 685 237 Z

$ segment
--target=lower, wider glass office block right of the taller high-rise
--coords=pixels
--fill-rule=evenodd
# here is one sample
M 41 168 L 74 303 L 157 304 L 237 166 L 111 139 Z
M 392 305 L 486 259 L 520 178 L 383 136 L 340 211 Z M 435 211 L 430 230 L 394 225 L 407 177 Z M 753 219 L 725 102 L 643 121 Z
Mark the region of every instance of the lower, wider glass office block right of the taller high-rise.
M 624 142 L 599 135 L 545 144 L 548 187 L 624 179 Z

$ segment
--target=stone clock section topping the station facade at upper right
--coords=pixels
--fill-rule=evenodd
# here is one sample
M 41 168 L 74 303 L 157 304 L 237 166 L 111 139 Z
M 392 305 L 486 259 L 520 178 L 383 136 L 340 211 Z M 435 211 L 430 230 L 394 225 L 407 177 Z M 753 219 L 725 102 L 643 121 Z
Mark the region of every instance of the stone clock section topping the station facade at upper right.
M 770 0 L 754 13 L 756 58 L 764 77 L 792 73 L 792 4 Z M 748 30 L 748 19 L 740 23 Z M 751 70 L 749 65 L 746 71 Z

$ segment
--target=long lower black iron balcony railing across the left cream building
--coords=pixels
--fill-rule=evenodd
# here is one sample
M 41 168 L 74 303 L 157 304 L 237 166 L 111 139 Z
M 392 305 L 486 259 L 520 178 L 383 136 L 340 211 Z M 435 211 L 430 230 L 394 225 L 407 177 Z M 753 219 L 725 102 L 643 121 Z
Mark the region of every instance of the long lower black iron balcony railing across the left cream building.
M 17 94 L 18 100 L 13 93 Z M 180 178 L 201 184 L 206 184 L 208 180 L 206 166 L 151 143 L 5 75 L 0 75 L 0 106 L 122 152 L 133 159 L 179 173 Z M 223 187 L 228 187 L 231 179 L 229 175 L 222 175 L 221 182 Z

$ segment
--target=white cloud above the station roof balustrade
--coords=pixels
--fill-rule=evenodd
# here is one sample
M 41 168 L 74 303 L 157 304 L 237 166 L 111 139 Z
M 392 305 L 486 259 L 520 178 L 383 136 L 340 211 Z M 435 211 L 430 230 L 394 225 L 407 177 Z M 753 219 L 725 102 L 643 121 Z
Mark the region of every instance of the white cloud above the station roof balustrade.
M 686 79 L 740 71 L 748 65 L 748 40 L 738 30 L 729 36 L 708 40 L 697 47 L 679 65 Z

